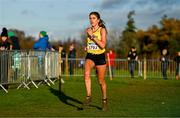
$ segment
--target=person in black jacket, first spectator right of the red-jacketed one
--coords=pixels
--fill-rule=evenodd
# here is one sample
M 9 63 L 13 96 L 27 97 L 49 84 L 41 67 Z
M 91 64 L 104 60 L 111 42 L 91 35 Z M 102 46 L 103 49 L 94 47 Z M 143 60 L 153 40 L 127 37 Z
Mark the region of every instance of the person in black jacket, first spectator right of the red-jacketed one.
M 134 70 L 135 70 L 135 64 L 138 60 L 137 52 L 135 47 L 131 47 L 131 50 L 128 53 L 128 68 L 129 72 L 131 74 L 131 78 L 134 78 Z

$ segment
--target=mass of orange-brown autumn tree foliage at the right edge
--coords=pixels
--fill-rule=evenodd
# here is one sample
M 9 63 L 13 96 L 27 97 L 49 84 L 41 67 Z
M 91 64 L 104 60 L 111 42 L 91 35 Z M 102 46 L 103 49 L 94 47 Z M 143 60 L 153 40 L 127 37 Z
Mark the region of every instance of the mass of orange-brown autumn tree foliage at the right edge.
M 153 25 L 147 31 L 139 30 L 137 37 L 140 54 L 157 58 L 160 52 L 167 48 L 169 55 L 173 57 L 180 50 L 180 20 L 164 15 L 160 21 L 160 27 Z

